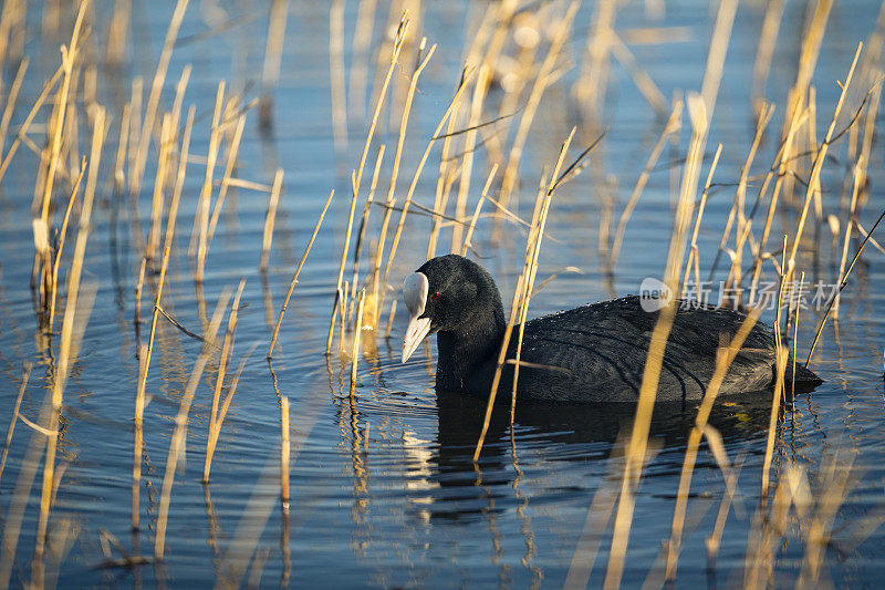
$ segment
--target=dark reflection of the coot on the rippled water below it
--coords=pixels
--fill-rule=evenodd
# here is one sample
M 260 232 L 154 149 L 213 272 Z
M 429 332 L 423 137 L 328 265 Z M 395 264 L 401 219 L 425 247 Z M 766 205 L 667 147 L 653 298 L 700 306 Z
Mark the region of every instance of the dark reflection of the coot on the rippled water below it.
M 718 403 L 709 423 L 722 435 L 727 446 L 747 443 L 764 447 L 770 417 L 770 393 Z M 511 431 L 509 412 L 497 408 L 489 425 L 487 443 L 478 463 L 472 454 L 482 428 L 486 402 L 457 393 L 437 394 L 439 426 L 436 444 L 405 433 L 409 457 L 407 475 L 412 501 L 420 506 L 421 519 L 462 517 L 500 511 L 518 503 L 522 469 L 520 454 L 535 459 L 587 462 L 606 460 L 615 451 L 618 435 L 633 423 L 631 404 L 544 404 L 519 403 Z M 649 436 L 662 452 L 681 449 L 695 425 L 697 403 L 659 403 L 655 407 Z M 512 436 L 512 438 L 511 438 Z M 654 470 L 654 475 L 677 475 L 679 467 Z M 514 486 L 514 483 L 517 486 Z M 552 485 L 558 485 L 553 483 Z M 513 495 L 517 495 L 514 498 Z M 498 500 L 494 508 L 490 503 Z

